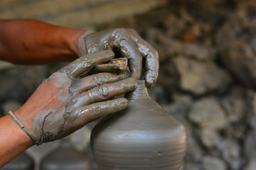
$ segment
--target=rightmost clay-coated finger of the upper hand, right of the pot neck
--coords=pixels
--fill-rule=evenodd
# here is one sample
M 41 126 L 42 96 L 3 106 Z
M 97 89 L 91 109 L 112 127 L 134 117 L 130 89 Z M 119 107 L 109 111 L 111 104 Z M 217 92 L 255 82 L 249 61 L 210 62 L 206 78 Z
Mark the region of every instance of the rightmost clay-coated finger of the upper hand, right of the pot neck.
M 139 52 L 142 57 L 146 58 L 146 86 L 151 88 L 156 84 L 156 79 L 159 74 L 159 55 L 158 52 L 152 47 L 146 40 L 141 38 L 139 34 L 133 30 L 128 30 L 129 34 L 132 35 L 132 39 L 137 43 Z

